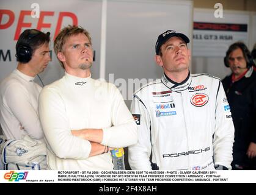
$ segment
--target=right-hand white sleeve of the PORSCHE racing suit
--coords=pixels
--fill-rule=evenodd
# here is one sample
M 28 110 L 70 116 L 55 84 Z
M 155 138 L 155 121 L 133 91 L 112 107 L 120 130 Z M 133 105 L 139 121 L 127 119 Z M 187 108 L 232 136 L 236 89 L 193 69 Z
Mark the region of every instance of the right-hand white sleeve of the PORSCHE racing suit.
M 222 83 L 219 83 L 219 91 L 216 99 L 216 123 L 213 138 L 213 155 L 215 165 L 222 165 L 231 169 L 233 160 L 234 125 L 229 103 L 225 96 Z

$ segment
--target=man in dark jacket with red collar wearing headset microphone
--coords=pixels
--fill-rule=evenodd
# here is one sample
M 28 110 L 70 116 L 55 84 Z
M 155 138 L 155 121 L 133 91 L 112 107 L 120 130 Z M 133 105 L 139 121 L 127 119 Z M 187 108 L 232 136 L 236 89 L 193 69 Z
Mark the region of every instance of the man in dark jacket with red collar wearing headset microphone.
M 230 45 L 224 58 L 232 71 L 222 80 L 235 126 L 232 169 L 256 169 L 256 73 L 246 45 Z

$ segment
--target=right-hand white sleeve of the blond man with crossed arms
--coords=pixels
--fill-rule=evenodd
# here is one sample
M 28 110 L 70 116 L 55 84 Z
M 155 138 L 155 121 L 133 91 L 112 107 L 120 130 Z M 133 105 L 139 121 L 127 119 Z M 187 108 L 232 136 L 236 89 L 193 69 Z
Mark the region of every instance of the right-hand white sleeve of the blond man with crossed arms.
M 127 147 L 137 142 L 137 126 L 123 101 L 122 94 L 113 85 L 111 101 L 112 127 L 103 128 L 101 144 L 111 147 Z

